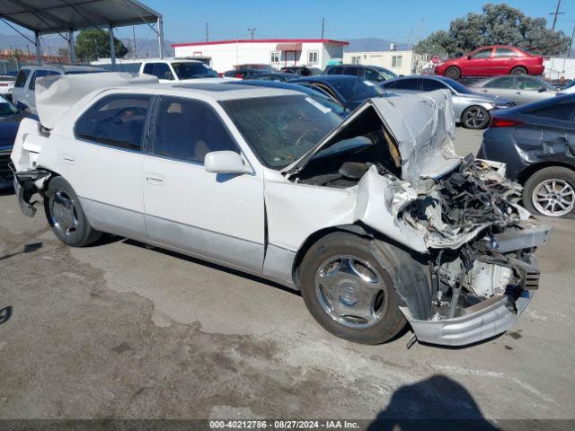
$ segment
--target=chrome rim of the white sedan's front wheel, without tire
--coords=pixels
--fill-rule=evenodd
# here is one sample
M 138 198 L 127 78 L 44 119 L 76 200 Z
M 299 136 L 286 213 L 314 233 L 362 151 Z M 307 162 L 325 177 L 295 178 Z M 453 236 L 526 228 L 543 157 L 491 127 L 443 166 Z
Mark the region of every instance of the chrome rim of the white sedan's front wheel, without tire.
M 315 295 L 332 320 L 351 329 L 374 326 L 387 307 L 383 277 L 357 256 L 325 259 L 315 275 Z

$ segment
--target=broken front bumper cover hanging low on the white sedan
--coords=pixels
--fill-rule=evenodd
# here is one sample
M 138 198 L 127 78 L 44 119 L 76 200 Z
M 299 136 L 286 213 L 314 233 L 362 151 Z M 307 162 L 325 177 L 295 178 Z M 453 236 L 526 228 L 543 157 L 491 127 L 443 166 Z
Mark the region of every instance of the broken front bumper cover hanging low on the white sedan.
M 532 290 L 523 291 L 516 302 L 517 314 L 506 307 L 505 296 L 493 297 L 479 304 L 483 306 L 481 310 L 443 321 L 417 321 L 411 317 L 406 307 L 400 307 L 400 310 L 410 322 L 418 341 L 443 346 L 464 346 L 509 330 L 525 311 L 533 294 Z

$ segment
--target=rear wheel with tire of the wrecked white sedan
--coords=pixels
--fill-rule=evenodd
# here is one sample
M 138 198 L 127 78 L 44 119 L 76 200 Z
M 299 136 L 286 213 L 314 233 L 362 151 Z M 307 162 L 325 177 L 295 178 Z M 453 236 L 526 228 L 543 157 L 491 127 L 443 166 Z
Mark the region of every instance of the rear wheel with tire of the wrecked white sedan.
M 57 239 L 72 247 L 84 247 L 102 236 L 88 223 L 74 189 L 62 177 L 49 181 L 44 209 Z

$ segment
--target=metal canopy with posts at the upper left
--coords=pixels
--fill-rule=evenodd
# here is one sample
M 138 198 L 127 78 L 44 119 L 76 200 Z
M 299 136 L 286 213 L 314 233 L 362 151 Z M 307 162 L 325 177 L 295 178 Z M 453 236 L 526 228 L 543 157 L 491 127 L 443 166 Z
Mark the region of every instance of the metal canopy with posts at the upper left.
M 0 20 L 34 32 L 36 57 L 42 63 L 40 35 L 58 33 L 68 44 L 70 61 L 75 62 L 74 31 L 107 28 L 110 33 L 112 69 L 116 66 L 115 27 L 147 24 L 158 36 L 160 57 L 165 57 L 162 15 L 137 0 L 0 0 Z M 157 24 L 157 31 L 153 24 Z M 12 27 L 13 28 L 13 27 Z M 13 30 L 18 31 L 13 28 Z M 24 38 L 28 39 L 20 31 Z M 64 36 L 63 33 L 67 33 Z

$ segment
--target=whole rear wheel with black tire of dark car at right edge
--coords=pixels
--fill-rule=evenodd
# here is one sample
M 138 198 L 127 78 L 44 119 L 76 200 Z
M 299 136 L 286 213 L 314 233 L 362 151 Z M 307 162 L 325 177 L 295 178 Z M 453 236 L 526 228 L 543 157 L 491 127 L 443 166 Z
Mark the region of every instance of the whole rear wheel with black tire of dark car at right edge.
M 568 187 L 571 188 L 571 190 L 575 190 L 575 172 L 571 171 L 571 169 L 569 168 L 564 168 L 562 166 L 550 166 L 548 168 L 544 168 L 540 171 L 535 172 L 533 175 L 529 177 L 528 180 L 526 180 L 523 189 L 523 206 L 526 207 L 526 209 L 529 212 L 533 214 L 540 214 L 542 216 L 548 216 L 548 217 L 575 216 L 575 205 L 569 206 L 571 207 L 571 210 L 568 210 L 567 212 L 565 212 L 565 214 L 562 214 L 564 211 L 554 211 L 555 214 L 551 214 L 553 210 L 545 212 L 540 211 L 540 209 L 537 208 L 537 207 L 543 207 L 542 209 L 544 209 L 545 202 L 548 201 L 544 202 L 540 201 L 539 205 L 535 204 L 534 202 L 534 200 L 536 200 L 536 197 L 534 196 L 535 191 L 539 190 L 540 188 L 544 189 L 543 185 L 545 183 L 549 184 L 550 182 L 551 184 L 553 184 L 552 182 L 553 180 L 557 180 L 557 182 L 555 183 L 557 184 L 557 189 L 562 187 L 562 185 L 567 185 Z M 571 202 L 573 199 L 575 199 L 575 196 L 567 195 L 564 196 L 563 198 Z M 554 205 L 553 209 L 559 209 L 559 205 Z M 567 209 L 568 208 L 566 208 L 566 210 Z

